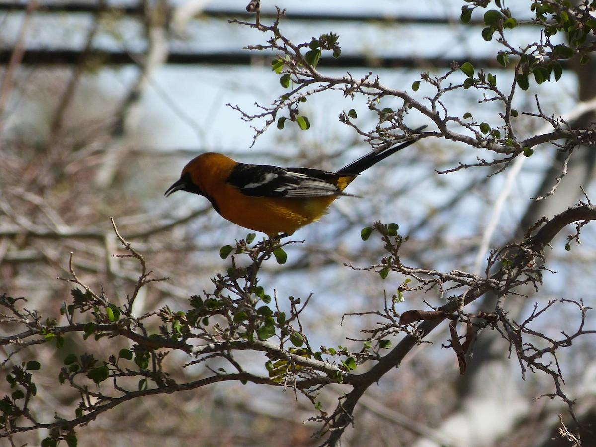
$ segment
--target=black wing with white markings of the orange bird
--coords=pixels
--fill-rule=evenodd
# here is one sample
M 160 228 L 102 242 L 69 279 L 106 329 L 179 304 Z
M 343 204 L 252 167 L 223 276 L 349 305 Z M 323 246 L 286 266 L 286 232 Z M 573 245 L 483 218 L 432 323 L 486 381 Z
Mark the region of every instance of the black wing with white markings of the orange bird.
M 339 177 L 333 172 L 308 167 L 238 163 L 226 182 L 251 197 L 347 195 L 336 186 Z

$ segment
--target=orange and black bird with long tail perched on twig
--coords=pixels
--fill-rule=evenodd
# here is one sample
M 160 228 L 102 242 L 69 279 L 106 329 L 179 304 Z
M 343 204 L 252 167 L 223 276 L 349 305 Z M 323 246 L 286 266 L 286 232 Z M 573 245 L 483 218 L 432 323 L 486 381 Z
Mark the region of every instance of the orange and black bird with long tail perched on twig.
M 238 163 L 207 152 L 188 162 L 164 195 L 176 191 L 202 195 L 228 221 L 280 239 L 318 221 L 337 197 L 353 195 L 343 191 L 361 172 L 417 139 L 372 151 L 337 172 Z

